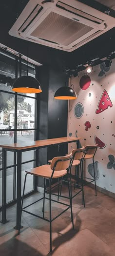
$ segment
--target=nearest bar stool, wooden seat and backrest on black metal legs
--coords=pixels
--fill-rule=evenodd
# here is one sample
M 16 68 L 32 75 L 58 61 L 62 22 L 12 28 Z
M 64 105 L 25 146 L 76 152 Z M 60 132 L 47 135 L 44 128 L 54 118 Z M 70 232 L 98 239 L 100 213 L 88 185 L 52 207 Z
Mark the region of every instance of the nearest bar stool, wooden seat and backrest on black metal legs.
M 68 172 L 69 172 L 69 169 L 71 167 L 72 159 L 73 159 L 72 154 L 70 154 L 68 156 L 65 156 L 65 157 L 56 157 L 56 158 L 52 159 L 51 165 L 45 164 L 45 165 L 41 165 L 39 167 L 36 167 L 36 168 L 25 171 L 26 175 L 25 175 L 25 180 L 24 180 L 23 195 L 22 195 L 22 202 L 21 202 L 20 224 L 21 224 L 22 211 L 26 212 L 28 214 L 31 214 L 33 216 L 36 216 L 40 219 L 44 219 L 44 220 L 48 221 L 50 223 L 50 252 L 52 251 L 52 221 L 55 220 L 57 217 L 59 217 L 61 214 L 63 214 L 65 211 L 67 211 L 70 208 L 71 208 L 71 220 L 72 220 L 72 225 L 73 225 L 73 229 L 74 229 L 73 212 L 72 212 L 72 200 L 71 200 L 71 195 L 70 195 L 69 179 L 68 179 Z M 31 174 L 31 175 L 34 175 L 34 176 L 40 176 L 40 177 L 44 178 L 43 197 L 34 202 L 34 203 L 36 203 L 36 202 L 40 201 L 41 199 L 43 199 L 43 217 L 38 216 L 38 215 L 33 214 L 33 213 L 30 213 L 30 212 L 25 210 L 25 208 L 29 207 L 30 205 L 32 205 L 34 203 L 31 203 L 28 206 L 23 207 L 23 197 L 24 197 L 27 174 Z M 68 198 L 70 200 L 70 204 L 65 204 L 65 203 L 59 202 L 57 200 L 51 199 L 51 181 L 52 181 L 52 179 L 58 178 L 58 177 L 63 177 L 66 174 L 67 174 L 67 180 L 68 180 L 68 182 L 67 182 L 68 183 L 68 192 L 69 192 L 69 197 Z M 47 179 L 49 180 L 49 198 L 45 197 L 45 184 L 46 184 Z M 44 217 L 45 199 L 49 200 L 49 206 L 50 206 L 50 218 L 49 219 Z M 59 213 L 53 219 L 52 219 L 52 211 L 51 211 L 51 201 L 58 202 L 62 205 L 67 206 L 67 208 L 65 210 L 63 210 L 61 213 Z M 19 225 L 19 227 L 20 227 L 20 225 Z M 20 232 L 20 228 L 19 228 L 19 232 Z

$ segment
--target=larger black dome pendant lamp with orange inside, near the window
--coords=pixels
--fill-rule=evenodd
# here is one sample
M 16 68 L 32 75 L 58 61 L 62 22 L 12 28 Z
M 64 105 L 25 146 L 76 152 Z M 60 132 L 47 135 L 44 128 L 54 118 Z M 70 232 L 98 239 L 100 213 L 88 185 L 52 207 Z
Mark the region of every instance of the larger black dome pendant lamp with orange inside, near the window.
M 12 87 L 12 91 L 18 93 L 41 93 L 41 85 L 36 78 L 23 76 L 18 78 Z

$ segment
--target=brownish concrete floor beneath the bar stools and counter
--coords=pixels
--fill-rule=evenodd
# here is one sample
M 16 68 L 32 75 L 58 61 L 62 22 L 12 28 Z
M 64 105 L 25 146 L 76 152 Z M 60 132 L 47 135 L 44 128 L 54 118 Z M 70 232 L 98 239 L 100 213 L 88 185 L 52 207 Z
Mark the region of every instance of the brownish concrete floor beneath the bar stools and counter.
M 66 191 L 67 188 L 63 188 L 65 195 Z M 42 194 L 26 198 L 24 204 L 38 197 Z M 53 221 L 52 254 L 49 253 L 49 223 L 23 212 L 23 228 L 18 236 L 13 229 L 16 206 L 8 208 L 9 222 L 0 224 L 0 256 L 115 256 L 115 200 L 99 192 L 96 197 L 95 191 L 89 187 L 85 187 L 85 200 L 86 208 L 83 208 L 81 193 L 73 199 L 74 231 L 70 210 Z M 52 216 L 64 207 L 53 202 Z M 41 214 L 42 203 L 36 203 L 28 210 Z M 49 201 L 46 200 L 45 217 L 48 216 Z

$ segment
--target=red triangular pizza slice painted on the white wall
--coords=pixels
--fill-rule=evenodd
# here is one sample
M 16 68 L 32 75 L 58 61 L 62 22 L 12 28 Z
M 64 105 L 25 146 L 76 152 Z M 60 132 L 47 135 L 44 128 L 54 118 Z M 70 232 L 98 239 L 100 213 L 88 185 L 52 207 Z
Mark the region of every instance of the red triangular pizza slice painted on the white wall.
M 98 102 L 98 109 L 96 109 L 96 114 L 99 114 L 106 110 L 108 107 L 112 107 L 112 101 L 109 98 L 109 95 L 106 90 L 103 91 L 101 98 Z

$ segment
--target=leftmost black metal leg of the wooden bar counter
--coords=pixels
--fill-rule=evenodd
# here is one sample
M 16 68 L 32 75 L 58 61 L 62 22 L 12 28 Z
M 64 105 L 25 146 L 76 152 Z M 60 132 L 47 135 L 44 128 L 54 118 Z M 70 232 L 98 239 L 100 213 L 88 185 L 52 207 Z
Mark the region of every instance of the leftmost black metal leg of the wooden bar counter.
M 2 220 L 5 224 L 6 220 L 6 150 L 2 148 Z

